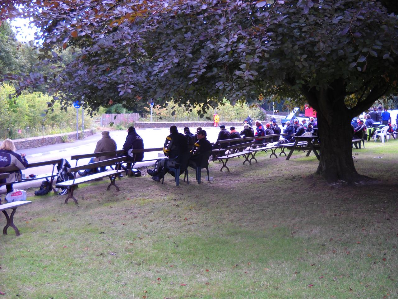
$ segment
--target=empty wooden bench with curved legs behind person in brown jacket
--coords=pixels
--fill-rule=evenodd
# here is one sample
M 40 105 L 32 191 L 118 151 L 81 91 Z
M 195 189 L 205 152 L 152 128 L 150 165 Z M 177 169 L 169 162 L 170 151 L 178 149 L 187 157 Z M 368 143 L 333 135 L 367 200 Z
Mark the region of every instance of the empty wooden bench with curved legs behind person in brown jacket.
M 83 184 L 83 183 L 88 183 L 88 182 L 94 181 L 96 179 L 102 179 L 103 177 L 109 177 L 111 183 L 108 185 L 107 190 L 109 190 L 111 186 L 115 186 L 116 190 L 119 191 L 119 187 L 117 187 L 117 185 L 115 184 L 115 179 L 120 173 L 124 172 L 124 170 L 119 170 L 117 167 L 120 163 L 122 163 L 124 158 L 125 157 L 117 157 L 117 158 L 113 158 L 113 159 L 103 160 L 100 162 L 94 162 L 94 163 L 89 163 L 89 164 L 85 164 L 85 165 L 72 167 L 69 169 L 69 172 L 74 173 L 73 180 L 57 183 L 57 184 L 55 184 L 55 187 L 68 189 L 68 197 L 66 197 L 66 199 L 65 199 L 65 204 L 68 203 L 69 199 L 73 199 L 73 201 L 75 202 L 76 205 L 78 204 L 78 202 L 77 202 L 77 199 L 73 195 L 73 191 L 78 187 L 78 185 Z M 93 173 L 91 175 L 86 175 L 84 177 L 79 177 L 76 179 L 76 173 L 79 170 L 98 168 L 98 167 L 104 167 L 104 166 L 112 166 L 112 165 L 116 165 L 115 169 L 111 169 L 111 170 L 107 170 L 107 171 L 103 171 L 103 172 L 99 172 L 99 173 Z

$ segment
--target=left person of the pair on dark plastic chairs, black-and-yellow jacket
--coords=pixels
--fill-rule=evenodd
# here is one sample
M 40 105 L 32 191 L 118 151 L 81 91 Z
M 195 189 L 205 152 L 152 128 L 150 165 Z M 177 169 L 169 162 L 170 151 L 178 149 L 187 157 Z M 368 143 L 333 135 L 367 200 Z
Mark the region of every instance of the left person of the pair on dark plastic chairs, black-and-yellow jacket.
M 168 159 L 156 160 L 154 169 L 148 169 L 146 172 L 152 176 L 154 181 L 160 182 L 162 179 L 163 168 L 166 166 L 176 167 L 180 165 L 180 169 L 184 170 L 187 168 L 187 162 L 189 159 L 188 142 L 184 134 L 178 133 L 176 126 L 170 127 L 170 135 L 166 137 L 164 142 L 163 152 Z M 167 161 L 167 165 L 166 165 Z M 174 175 L 173 172 L 169 172 Z M 183 173 L 183 171 L 181 171 Z

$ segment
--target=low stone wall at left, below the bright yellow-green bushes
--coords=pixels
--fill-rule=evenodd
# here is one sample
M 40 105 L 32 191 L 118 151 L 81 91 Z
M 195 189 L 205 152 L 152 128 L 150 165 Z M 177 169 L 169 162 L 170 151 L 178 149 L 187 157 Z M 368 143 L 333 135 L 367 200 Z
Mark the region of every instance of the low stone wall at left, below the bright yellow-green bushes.
M 82 131 L 79 131 L 79 139 L 82 138 Z M 93 130 L 84 130 L 84 136 L 91 136 L 94 134 Z M 24 148 L 39 148 L 40 146 L 48 146 L 50 144 L 59 144 L 64 142 L 62 140 L 63 136 L 68 136 L 68 140 L 76 140 L 76 132 L 39 136 L 39 137 L 29 137 L 23 139 L 15 139 L 14 144 L 16 149 Z M 1 144 L 2 142 L 0 142 Z

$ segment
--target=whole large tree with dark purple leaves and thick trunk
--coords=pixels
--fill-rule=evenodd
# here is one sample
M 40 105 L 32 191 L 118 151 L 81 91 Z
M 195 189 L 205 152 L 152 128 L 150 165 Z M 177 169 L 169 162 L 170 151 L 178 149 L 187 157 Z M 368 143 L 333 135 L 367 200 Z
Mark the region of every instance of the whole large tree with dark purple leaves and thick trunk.
M 24 1 L 20 1 L 24 2 Z M 361 182 L 350 120 L 396 92 L 396 6 L 373 0 L 26 1 L 41 28 L 45 82 L 68 105 L 92 109 L 174 100 L 205 111 L 259 94 L 308 102 L 321 140 L 317 172 Z M 386 9 L 386 6 L 389 10 Z M 38 8 L 40 7 L 40 10 Z M 75 47 L 72 62 L 60 53 Z M 19 90 L 20 92 L 20 90 Z

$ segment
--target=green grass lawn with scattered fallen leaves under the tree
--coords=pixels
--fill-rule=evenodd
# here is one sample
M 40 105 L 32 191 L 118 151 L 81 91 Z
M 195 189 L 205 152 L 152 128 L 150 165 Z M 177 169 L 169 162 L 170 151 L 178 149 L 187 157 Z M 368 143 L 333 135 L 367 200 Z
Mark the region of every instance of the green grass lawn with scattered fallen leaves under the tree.
M 179 187 L 82 186 L 78 207 L 30 197 L 21 236 L 0 236 L 2 297 L 398 298 L 398 140 L 365 146 L 353 156 L 378 179 L 368 185 L 326 184 L 313 154 L 262 153 L 228 161 L 230 173 L 210 163 L 201 185 L 191 169 Z

